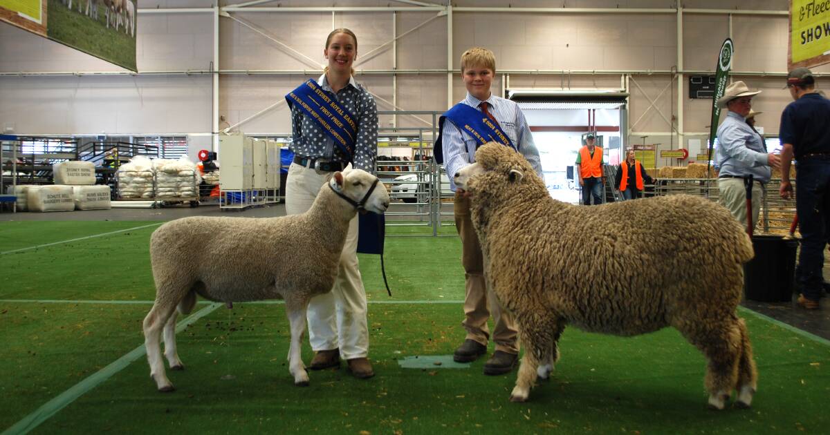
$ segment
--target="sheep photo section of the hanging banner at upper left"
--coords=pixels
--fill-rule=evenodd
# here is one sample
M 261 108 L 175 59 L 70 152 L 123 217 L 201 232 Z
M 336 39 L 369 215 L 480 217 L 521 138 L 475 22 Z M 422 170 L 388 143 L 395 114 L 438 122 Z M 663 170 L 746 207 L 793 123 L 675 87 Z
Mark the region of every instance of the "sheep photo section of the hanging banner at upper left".
M 135 65 L 137 0 L 48 0 L 46 36 L 138 72 Z

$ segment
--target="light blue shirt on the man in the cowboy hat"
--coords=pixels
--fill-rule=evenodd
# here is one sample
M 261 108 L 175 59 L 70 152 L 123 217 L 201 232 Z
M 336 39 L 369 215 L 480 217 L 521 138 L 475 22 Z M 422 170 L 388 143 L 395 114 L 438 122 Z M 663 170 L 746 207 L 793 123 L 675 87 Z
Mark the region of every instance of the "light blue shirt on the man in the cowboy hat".
M 766 183 L 772 176 L 766 147 L 758 133 L 749 127 L 740 114 L 727 112 L 718 127 L 718 148 L 715 150 L 715 169 L 720 175 L 748 176 Z

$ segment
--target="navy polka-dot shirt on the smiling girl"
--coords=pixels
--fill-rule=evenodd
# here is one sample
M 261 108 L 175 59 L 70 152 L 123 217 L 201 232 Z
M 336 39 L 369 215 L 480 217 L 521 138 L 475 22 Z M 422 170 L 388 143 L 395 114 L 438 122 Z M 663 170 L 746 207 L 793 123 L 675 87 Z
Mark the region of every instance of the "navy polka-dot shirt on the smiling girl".
M 320 75 L 317 83 L 324 90 L 334 92 L 325 74 Z M 374 98 L 354 81 L 354 77 L 350 77 L 349 84 L 335 93 L 335 96 L 338 103 L 354 114 L 357 120 L 358 134 L 354 141 L 352 165 L 374 174 L 374 162 L 378 153 L 378 107 L 374 104 Z M 349 157 L 334 146 L 334 139 L 314 119 L 305 116 L 295 104 L 291 104 L 291 134 L 293 141 L 289 148 L 297 156 L 349 162 Z

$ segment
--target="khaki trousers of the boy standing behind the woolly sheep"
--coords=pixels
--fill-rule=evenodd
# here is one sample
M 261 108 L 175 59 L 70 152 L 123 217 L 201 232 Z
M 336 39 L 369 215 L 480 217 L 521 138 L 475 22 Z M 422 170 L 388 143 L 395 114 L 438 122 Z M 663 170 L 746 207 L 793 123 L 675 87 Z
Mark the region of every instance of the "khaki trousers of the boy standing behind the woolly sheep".
M 501 307 L 496 294 L 486 284 L 484 278 L 481 246 L 478 244 L 478 236 L 470 219 L 470 200 L 457 193 L 454 210 L 456 229 L 458 235 L 461 236 L 461 264 L 464 266 L 466 277 L 464 321 L 461 322 L 466 329 L 466 339 L 487 346 L 490 338 L 487 320 L 492 314 L 495 323 L 493 341 L 496 343 L 496 350 L 518 354 L 519 344 L 516 341 L 517 331 L 513 315 Z

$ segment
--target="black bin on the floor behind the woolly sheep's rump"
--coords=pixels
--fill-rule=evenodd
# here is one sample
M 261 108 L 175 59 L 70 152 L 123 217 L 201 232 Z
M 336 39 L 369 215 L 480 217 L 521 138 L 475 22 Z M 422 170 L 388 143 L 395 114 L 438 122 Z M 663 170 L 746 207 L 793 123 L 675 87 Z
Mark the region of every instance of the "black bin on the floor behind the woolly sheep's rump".
M 744 265 L 744 295 L 750 301 L 790 302 L 795 289 L 798 240 L 754 235 L 755 257 Z

